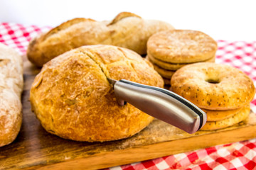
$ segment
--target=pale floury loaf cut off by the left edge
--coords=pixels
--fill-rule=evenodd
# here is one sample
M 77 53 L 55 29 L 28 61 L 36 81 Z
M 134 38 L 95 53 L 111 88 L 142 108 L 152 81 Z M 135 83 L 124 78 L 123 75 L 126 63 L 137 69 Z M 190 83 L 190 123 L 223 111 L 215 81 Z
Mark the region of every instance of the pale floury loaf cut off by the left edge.
M 21 128 L 22 89 L 21 56 L 0 43 L 0 147 L 13 142 Z

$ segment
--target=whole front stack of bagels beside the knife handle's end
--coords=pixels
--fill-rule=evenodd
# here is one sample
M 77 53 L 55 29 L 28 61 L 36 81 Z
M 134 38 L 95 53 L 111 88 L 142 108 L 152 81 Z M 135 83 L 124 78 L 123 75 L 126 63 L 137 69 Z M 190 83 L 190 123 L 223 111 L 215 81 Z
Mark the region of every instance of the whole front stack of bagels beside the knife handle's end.
M 171 91 L 206 112 L 202 130 L 227 128 L 245 120 L 255 96 L 250 77 L 235 67 L 210 62 L 178 69 L 171 78 Z

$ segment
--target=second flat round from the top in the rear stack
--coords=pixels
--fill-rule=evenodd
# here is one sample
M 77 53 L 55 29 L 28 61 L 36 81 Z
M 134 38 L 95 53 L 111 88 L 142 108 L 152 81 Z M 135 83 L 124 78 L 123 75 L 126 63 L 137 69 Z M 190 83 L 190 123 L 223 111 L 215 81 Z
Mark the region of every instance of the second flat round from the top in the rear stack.
M 187 64 L 192 64 L 192 63 L 171 63 L 171 62 L 163 62 L 161 60 L 156 59 L 155 57 L 152 57 L 150 54 L 146 55 L 146 58 L 149 59 L 150 62 L 158 65 L 159 67 L 163 69 L 169 69 L 169 70 L 177 70 L 180 69 L 183 66 L 186 66 Z M 201 62 L 215 62 L 215 55 L 211 57 L 208 60 L 204 60 Z

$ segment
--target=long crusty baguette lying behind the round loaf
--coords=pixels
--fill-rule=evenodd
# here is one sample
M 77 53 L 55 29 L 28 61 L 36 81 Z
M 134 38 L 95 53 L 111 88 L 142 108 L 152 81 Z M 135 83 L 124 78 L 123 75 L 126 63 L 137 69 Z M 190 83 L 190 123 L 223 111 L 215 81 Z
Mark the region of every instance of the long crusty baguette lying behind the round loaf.
M 174 29 L 163 21 L 144 20 L 134 13 L 119 13 L 112 21 L 75 18 L 31 40 L 27 56 L 33 64 L 43 64 L 82 45 L 116 45 L 146 54 L 146 42 L 161 30 Z

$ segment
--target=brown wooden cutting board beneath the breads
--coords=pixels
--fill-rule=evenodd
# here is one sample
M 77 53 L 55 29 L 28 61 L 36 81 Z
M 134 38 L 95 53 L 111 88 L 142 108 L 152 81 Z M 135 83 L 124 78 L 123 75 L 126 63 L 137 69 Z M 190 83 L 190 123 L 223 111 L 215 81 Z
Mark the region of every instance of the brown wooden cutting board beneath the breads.
M 256 115 L 250 113 L 250 118 L 233 127 L 193 135 L 154 120 L 126 140 L 102 143 L 63 140 L 46 132 L 31 112 L 29 90 L 40 69 L 33 67 L 26 57 L 23 60 L 23 123 L 16 140 L 0 147 L 0 169 L 102 169 L 256 137 Z

